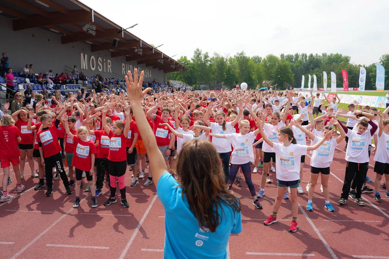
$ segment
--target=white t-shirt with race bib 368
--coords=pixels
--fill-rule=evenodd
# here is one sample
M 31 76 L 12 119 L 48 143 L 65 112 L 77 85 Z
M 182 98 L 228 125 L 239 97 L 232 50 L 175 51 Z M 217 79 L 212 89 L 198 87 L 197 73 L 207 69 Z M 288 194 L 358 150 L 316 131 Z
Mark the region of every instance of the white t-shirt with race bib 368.
M 274 143 L 272 152 L 275 152 L 276 177 L 282 181 L 295 181 L 300 179 L 301 156 L 307 154 L 307 145 Z

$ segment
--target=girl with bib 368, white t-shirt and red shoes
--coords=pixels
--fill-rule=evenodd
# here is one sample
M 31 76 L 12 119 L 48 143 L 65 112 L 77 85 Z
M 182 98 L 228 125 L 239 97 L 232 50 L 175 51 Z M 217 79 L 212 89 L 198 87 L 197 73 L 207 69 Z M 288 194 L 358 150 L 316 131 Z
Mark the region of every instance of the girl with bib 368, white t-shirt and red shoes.
M 291 188 L 291 201 L 292 201 L 292 222 L 289 231 L 297 231 L 297 214 L 298 214 L 298 201 L 297 201 L 297 186 L 300 181 L 300 161 L 301 156 L 306 154 L 307 151 L 315 150 L 320 147 L 324 141 L 329 140 L 333 135 L 334 131 L 328 131 L 326 136 L 318 141 L 313 146 L 299 145 L 296 144 L 296 138 L 293 136 L 292 129 L 288 127 L 282 127 L 279 129 L 279 142 L 273 143 L 266 133 L 261 128 L 258 128 L 262 135 L 263 141 L 268 144 L 272 151 L 276 154 L 277 164 L 277 198 L 274 203 L 273 213 L 263 224 L 270 225 L 277 222 L 277 212 L 281 206 L 281 201 L 285 193 L 286 187 Z

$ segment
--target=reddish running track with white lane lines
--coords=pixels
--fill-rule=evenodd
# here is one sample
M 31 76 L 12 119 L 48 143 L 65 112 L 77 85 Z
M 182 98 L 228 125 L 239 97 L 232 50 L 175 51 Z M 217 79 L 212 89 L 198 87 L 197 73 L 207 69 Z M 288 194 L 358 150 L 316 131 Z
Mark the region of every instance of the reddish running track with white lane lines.
M 343 141 L 338 147 L 342 149 L 344 146 Z M 373 200 L 373 193 L 363 194 L 364 207 L 351 199 L 346 205 L 337 203 L 345 171 L 345 153 L 340 149 L 335 151 L 329 177 L 333 213 L 324 209 L 320 182 L 313 199 L 314 211 L 305 209 L 305 186 L 310 175 L 310 158 L 306 156 L 302 182 L 305 193 L 298 194 L 300 210 L 296 233 L 288 231 L 292 217 L 290 200 L 282 201 L 277 215 L 279 222 L 263 225 L 272 212 L 277 192 L 274 173 L 270 175 L 272 184 L 266 185 L 265 196 L 261 199 L 262 210 L 252 205 L 244 179 L 243 187 L 234 184 L 233 191 L 242 203 L 243 231 L 231 235 L 228 258 L 389 258 L 389 198 L 385 197 L 385 190 L 381 189 L 382 203 Z M 372 158 L 370 165 L 374 165 Z M 28 164 L 28 172 L 27 169 Z M 145 180 L 141 179 L 138 186 L 129 187 L 131 174 L 126 174 L 130 208 L 124 208 L 119 202 L 103 206 L 109 193 L 107 184 L 97 198 L 97 208 L 90 207 L 88 193 L 81 194 L 80 207 L 72 208 L 75 194 L 64 194 L 65 188 L 60 180 L 54 181 L 53 196 L 45 197 L 44 190 L 33 189 L 38 179 L 25 173 L 22 180 L 25 191 L 14 200 L 0 204 L 1 258 L 53 258 L 58 255 L 63 258 L 162 258 L 165 236 L 163 207 L 154 185 L 144 187 Z M 252 174 L 257 192 L 260 176 L 261 169 Z M 372 167 L 368 176 L 375 178 Z M 16 195 L 16 189 L 10 190 L 16 187 L 12 170 L 11 177 L 13 182 L 9 185 L 9 192 Z M 368 183 L 368 186 L 372 187 L 372 184 Z

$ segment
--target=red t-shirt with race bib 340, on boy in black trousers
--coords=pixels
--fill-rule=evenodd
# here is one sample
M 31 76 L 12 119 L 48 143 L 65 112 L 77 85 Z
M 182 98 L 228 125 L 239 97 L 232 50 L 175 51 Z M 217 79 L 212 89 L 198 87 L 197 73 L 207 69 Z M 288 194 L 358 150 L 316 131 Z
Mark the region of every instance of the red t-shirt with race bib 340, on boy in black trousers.
M 61 152 L 60 143 L 57 137 L 57 127 L 55 123 L 48 129 L 37 133 L 38 143 L 42 143 L 43 157 L 48 158 Z

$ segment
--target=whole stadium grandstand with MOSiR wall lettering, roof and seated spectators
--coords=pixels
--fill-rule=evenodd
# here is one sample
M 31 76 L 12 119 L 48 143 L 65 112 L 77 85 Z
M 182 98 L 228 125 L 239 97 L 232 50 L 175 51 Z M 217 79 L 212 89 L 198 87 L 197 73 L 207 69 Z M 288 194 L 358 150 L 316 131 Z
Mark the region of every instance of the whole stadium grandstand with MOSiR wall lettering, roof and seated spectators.
M 125 91 L 128 70 L 144 70 L 144 86 L 166 91 L 167 73 L 187 68 L 77 0 L 0 3 L 1 105 L 15 91 Z M 5 62 L 7 61 L 7 62 Z M 5 74 L 12 68 L 12 81 Z M 171 86 L 173 88 L 179 87 Z M 11 91 L 12 90 L 12 91 Z M 12 92 L 12 93 L 11 93 Z M 46 92 L 46 91 L 45 91 Z

